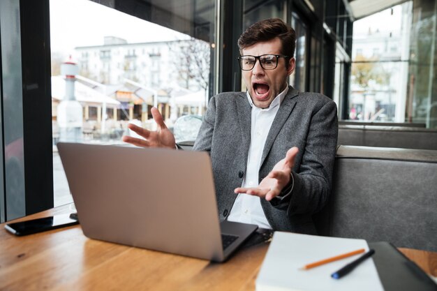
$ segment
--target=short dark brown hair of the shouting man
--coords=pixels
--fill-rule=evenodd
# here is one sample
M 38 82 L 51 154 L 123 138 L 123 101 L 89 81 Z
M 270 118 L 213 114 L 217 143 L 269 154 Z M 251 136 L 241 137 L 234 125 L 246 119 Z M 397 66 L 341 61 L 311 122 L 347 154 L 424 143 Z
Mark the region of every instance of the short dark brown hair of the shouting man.
M 240 52 L 246 47 L 262 41 L 279 38 L 282 43 L 281 54 L 292 58 L 295 55 L 296 32 L 279 18 L 261 20 L 252 24 L 238 39 Z

